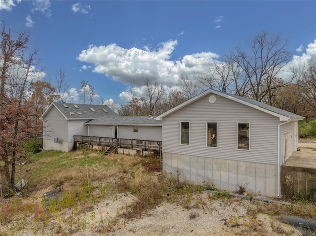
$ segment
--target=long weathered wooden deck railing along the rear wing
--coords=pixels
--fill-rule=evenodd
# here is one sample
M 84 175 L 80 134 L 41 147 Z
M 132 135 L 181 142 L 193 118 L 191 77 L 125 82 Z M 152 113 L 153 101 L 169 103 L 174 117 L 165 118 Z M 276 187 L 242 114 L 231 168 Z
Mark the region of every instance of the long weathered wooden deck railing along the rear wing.
M 98 145 L 98 146 L 117 146 L 130 149 L 142 150 L 161 150 L 161 141 L 140 140 L 128 138 L 114 137 L 98 137 L 98 136 L 83 136 L 74 135 L 74 141 L 80 144 Z

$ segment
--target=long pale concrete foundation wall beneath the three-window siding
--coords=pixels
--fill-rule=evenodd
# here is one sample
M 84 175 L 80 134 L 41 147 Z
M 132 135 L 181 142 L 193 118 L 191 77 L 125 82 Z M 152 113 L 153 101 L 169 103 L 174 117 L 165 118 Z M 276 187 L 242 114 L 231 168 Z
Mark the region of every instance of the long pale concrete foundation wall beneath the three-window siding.
M 216 188 L 236 191 L 246 186 L 248 194 L 277 197 L 277 165 L 233 161 L 192 155 L 163 153 L 163 171 L 196 184 L 208 181 Z

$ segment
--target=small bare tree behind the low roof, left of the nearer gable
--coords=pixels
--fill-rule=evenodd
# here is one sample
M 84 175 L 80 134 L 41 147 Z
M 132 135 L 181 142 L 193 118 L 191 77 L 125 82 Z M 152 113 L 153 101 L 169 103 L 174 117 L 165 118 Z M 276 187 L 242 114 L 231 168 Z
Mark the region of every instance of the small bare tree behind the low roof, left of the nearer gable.
M 148 110 L 152 115 L 156 115 L 155 107 L 163 96 L 163 85 L 157 82 L 153 83 L 150 79 L 146 78 L 145 86 L 149 102 Z

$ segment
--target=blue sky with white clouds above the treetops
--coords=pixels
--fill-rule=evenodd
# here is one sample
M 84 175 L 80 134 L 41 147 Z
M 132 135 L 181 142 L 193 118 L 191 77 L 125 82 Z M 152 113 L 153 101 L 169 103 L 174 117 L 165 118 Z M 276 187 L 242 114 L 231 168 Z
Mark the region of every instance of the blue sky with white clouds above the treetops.
M 262 31 L 290 40 L 292 65 L 316 59 L 316 1 L 0 0 L 0 19 L 30 31 L 43 79 L 65 67 L 73 102 L 82 80 L 121 104 L 147 77 L 176 86 Z

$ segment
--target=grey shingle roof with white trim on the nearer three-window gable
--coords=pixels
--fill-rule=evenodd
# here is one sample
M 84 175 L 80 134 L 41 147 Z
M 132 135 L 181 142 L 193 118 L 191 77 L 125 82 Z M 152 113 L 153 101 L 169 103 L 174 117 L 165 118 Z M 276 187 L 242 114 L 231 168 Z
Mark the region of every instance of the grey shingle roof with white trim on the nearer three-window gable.
M 170 109 L 169 111 L 164 112 L 163 114 L 159 115 L 156 119 L 161 120 L 163 117 L 166 117 L 169 114 L 181 109 L 182 107 L 185 107 L 185 106 L 187 106 L 187 105 L 189 105 L 189 104 L 191 104 L 191 103 L 193 103 L 193 102 L 195 102 L 195 101 L 197 101 L 197 100 L 199 100 L 207 95 L 210 95 L 210 94 L 216 94 L 218 96 L 227 98 L 229 100 L 237 101 L 239 103 L 250 106 L 252 108 L 261 110 L 263 112 L 266 112 L 268 114 L 271 114 L 273 116 L 278 117 L 280 121 L 304 119 L 304 117 L 302 117 L 302 116 L 296 115 L 294 113 L 291 113 L 291 112 L 288 112 L 288 111 L 285 111 L 285 110 L 282 110 L 279 108 L 276 108 L 274 106 L 262 103 L 260 101 L 255 101 L 255 100 L 243 98 L 243 97 L 240 97 L 237 95 L 227 94 L 227 93 L 219 92 L 219 91 L 212 90 L 212 89 L 206 90 L 203 93 L 200 93 L 199 95 L 197 95 L 196 97 L 194 97 L 188 101 L 183 102 L 182 104 Z

